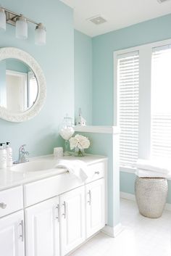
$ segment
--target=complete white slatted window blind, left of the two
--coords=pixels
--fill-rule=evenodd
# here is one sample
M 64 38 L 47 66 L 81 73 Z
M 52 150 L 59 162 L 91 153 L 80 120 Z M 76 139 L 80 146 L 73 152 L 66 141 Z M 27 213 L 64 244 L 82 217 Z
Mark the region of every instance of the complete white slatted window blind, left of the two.
M 120 166 L 134 167 L 138 159 L 139 54 L 117 55 L 120 124 Z

